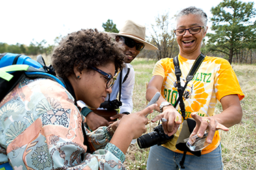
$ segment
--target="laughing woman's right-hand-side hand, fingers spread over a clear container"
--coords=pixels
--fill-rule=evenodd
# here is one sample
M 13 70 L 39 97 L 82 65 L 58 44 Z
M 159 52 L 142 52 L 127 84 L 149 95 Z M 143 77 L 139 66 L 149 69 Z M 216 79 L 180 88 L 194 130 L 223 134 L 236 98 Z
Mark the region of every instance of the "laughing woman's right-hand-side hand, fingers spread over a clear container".
M 197 125 L 194 131 L 190 134 L 190 137 L 197 135 L 203 137 L 205 130 L 208 130 L 208 137 L 206 138 L 207 143 L 212 143 L 215 131 L 221 129 L 223 131 L 229 131 L 229 129 L 223 124 L 219 123 L 213 116 L 201 117 L 196 113 L 191 114 L 192 118 L 195 119 Z

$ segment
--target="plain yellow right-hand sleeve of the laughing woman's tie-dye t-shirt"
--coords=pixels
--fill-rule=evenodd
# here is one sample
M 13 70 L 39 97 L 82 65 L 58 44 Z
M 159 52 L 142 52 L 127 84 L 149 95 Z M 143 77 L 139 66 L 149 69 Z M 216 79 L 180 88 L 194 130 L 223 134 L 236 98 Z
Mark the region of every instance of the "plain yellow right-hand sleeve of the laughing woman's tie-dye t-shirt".
M 236 73 L 227 60 L 223 58 L 219 58 L 219 60 L 221 61 L 221 67 L 214 78 L 217 99 L 221 100 L 221 98 L 227 95 L 238 95 L 239 99 L 242 100 L 244 94 L 240 88 Z

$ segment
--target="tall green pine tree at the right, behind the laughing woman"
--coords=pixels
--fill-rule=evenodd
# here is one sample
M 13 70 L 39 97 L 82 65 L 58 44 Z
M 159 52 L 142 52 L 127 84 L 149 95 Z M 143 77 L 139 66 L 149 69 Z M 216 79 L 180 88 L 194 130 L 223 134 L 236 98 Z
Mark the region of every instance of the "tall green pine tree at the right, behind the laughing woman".
M 212 30 L 208 33 L 208 49 L 226 54 L 232 63 L 234 54 L 255 39 L 255 17 L 253 2 L 242 3 L 238 0 L 223 0 L 212 7 Z

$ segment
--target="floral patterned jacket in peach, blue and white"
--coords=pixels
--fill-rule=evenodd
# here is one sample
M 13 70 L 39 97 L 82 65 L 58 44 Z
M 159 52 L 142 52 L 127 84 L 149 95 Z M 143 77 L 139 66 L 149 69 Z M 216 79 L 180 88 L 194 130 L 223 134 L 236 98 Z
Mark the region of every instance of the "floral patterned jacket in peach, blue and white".
M 57 82 L 23 79 L 0 103 L 0 165 L 13 169 L 125 169 L 124 153 L 103 126 L 87 129 L 79 109 Z

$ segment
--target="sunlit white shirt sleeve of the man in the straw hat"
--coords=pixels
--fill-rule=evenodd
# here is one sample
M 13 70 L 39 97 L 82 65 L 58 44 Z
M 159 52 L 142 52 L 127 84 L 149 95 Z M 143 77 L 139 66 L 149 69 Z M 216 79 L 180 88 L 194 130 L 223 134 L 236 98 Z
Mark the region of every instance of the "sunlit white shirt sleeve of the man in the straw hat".
M 125 75 L 123 75 L 124 77 Z M 133 103 L 132 103 L 132 90 L 134 88 L 135 82 L 135 73 L 134 69 L 130 67 L 130 73 L 128 74 L 128 78 L 122 84 L 122 94 L 121 94 L 121 101 L 122 106 L 119 109 L 119 113 L 122 114 L 123 112 L 132 113 Z

